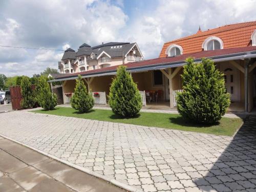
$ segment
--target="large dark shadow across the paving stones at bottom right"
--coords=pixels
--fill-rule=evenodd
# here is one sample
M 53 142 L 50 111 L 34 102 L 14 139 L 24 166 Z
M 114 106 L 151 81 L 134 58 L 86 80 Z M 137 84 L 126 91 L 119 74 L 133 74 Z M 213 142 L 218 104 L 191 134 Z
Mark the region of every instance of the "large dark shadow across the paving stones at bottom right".
M 249 115 L 205 177 L 194 180 L 203 191 L 256 191 L 256 115 Z

